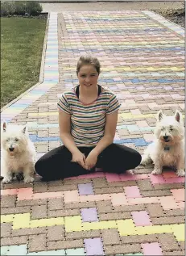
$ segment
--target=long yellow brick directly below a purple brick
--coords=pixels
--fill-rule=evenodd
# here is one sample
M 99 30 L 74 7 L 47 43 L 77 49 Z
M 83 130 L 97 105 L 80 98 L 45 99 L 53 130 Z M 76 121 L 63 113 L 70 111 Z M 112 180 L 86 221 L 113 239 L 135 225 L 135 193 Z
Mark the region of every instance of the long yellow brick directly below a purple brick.
M 117 224 L 115 220 L 100 221 L 100 222 L 86 222 L 82 224 L 82 229 L 85 230 L 96 230 L 96 229 L 116 229 Z

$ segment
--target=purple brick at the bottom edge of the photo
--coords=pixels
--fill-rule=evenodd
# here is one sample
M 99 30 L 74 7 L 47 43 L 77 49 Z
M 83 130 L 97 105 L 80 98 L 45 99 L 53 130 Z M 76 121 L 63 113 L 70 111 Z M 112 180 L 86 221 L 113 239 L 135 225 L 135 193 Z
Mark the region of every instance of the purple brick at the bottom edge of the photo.
M 101 238 L 84 239 L 86 255 L 105 255 Z

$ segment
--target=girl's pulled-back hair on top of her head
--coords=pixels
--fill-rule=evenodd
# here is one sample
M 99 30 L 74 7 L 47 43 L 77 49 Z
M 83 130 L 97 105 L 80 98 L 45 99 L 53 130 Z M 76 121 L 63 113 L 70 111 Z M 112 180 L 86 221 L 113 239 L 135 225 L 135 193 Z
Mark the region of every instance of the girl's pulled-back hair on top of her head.
M 101 73 L 101 65 L 100 61 L 96 57 L 92 57 L 89 55 L 81 56 L 79 61 L 77 61 L 76 65 L 76 75 L 79 73 L 81 67 L 83 65 L 93 65 L 93 67 L 97 70 L 97 73 Z

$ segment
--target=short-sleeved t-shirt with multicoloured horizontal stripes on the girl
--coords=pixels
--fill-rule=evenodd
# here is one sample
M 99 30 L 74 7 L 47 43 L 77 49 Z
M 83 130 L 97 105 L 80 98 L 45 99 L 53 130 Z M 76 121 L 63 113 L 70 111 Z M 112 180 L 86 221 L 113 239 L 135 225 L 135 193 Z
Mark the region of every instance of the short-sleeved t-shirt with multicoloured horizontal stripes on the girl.
M 89 105 L 76 96 L 76 87 L 62 94 L 57 103 L 60 110 L 71 115 L 71 134 L 76 146 L 96 146 L 104 135 L 105 115 L 118 110 L 116 95 L 101 86 L 101 94 Z

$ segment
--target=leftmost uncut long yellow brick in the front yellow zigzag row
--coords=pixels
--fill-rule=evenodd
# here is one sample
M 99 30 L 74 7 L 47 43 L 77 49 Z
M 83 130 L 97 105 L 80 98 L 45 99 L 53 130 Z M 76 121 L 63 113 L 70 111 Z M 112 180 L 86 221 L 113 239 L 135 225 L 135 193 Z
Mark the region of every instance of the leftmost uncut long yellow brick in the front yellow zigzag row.
M 30 228 L 49 227 L 54 225 L 64 225 L 64 217 L 30 221 Z

